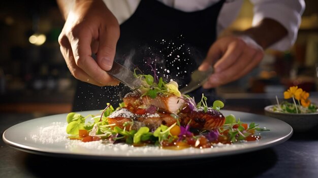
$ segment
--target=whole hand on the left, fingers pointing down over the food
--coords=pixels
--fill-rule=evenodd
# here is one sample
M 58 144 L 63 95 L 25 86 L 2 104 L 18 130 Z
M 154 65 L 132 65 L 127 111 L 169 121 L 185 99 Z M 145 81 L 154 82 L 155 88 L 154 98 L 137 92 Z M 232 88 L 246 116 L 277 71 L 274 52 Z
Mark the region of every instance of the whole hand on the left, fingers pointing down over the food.
M 93 85 L 118 85 L 105 72 L 112 67 L 119 39 L 117 19 L 101 0 L 74 1 L 63 10 L 66 22 L 58 42 L 72 75 Z M 96 60 L 92 54 L 97 54 Z

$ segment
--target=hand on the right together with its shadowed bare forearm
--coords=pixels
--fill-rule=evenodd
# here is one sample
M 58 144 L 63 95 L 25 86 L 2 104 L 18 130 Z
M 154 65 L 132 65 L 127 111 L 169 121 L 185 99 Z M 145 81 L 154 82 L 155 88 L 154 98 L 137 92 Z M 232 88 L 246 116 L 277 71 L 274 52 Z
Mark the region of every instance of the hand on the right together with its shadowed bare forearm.
M 263 59 L 263 49 L 287 35 L 287 29 L 279 22 L 265 18 L 239 35 L 219 38 L 199 66 L 199 70 L 207 70 L 211 65 L 214 67 L 214 74 L 203 88 L 218 87 L 243 77 Z

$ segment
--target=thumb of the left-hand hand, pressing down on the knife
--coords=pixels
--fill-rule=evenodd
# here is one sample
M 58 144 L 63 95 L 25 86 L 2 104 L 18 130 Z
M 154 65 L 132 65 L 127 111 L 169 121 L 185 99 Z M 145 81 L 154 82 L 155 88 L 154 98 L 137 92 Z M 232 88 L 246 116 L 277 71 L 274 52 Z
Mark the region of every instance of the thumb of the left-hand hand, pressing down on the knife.
M 104 70 L 110 70 L 113 65 L 116 44 L 119 39 L 119 28 L 105 29 L 100 32 L 97 63 Z M 117 35 L 116 35 L 117 34 Z

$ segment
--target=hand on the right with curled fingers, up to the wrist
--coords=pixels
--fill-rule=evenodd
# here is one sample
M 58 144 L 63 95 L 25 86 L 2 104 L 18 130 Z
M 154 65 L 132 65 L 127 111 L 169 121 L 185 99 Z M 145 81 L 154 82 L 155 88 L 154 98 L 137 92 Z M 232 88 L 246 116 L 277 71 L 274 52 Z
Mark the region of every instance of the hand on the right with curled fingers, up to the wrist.
M 209 49 L 199 70 L 214 66 L 214 73 L 203 84 L 203 88 L 218 87 L 235 81 L 257 66 L 264 51 L 247 36 L 228 36 L 218 39 Z

